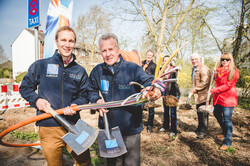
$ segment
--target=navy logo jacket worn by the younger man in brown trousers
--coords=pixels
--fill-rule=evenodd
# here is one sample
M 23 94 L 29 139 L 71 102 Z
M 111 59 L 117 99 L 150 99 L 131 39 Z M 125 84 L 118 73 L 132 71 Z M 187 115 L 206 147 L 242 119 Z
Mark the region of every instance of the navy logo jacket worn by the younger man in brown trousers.
M 73 54 L 72 54 L 73 55 Z M 89 83 L 86 70 L 73 61 L 63 66 L 62 57 L 55 51 L 53 57 L 34 62 L 24 76 L 20 93 L 32 107 L 36 107 L 38 98 L 46 99 L 54 110 L 71 104 L 87 104 L 87 86 Z M 38 91 L 37 91 L 38 88 Z M 37 109 L 37 115 L 44 113 Z M 63 117 L 75 124 L 80 118 L 79 112 L 73 116 Z M 36 123 L 38 126 L 60 126 L 54 118 L 47 118 Z

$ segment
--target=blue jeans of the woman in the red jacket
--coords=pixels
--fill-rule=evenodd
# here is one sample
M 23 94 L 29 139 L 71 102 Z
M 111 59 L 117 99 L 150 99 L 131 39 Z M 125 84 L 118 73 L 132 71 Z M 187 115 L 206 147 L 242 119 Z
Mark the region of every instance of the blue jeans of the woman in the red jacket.
M 233 135 L 233 116 L 234 107 L 223 107 L 221 105 L 214 106 L 214 116 L 217 119 L 222 133 L 224 135 L 224 140 L 222 145 L 231 146 L 232 145 L 232 135 Z

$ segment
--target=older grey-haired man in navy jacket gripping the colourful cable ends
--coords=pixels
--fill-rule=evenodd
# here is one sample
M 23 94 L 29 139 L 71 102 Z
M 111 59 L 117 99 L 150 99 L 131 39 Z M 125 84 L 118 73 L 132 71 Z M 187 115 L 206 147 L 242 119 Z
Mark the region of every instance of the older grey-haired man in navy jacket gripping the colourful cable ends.
M 119 54 L 117 37 L 112 33 L 104 34 L 99 39 L 99 48 L 104 63 L 97 65 L 90 74 L 89 97 L 92 103 L 124 100 L 130 95 L 140 92 L 140 87 L 130 85 L 131 81 L 145 87 L 150 86 L 154 77 L 146 74 L 135 63 L 125 61 Z M 103 99 L 99 96 L 101 92 Z M 160 98 L 161 92 L 155 88 L 151 99 Z M 127 153 L 107 159 L 108 165 L 138 166 L 140 165 L 140 140 L 142 126 L 142 106 L 126 106 L 100 109 L 108 112 L 108 122 L 111 128 L 119 126 Z M 104 128 L 103 118 L 99 116 L 99 128 Z

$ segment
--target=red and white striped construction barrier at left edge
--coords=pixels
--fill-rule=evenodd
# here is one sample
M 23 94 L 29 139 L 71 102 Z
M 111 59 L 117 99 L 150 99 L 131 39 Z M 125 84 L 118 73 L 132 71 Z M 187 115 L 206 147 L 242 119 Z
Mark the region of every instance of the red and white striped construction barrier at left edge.
M 19 84 L 0 84 L 0 87 L 0 110 L 29 106 L 29 103 L 19 93 Z

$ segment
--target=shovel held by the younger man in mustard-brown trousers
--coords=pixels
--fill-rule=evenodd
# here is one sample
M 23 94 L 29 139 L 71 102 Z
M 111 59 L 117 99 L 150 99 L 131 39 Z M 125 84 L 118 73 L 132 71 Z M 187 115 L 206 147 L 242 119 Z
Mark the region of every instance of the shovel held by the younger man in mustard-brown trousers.
M 86 151 L 95 142 L 99 133 L 98 129 L 93 128 L 81 119 L 77 121 L 75 126 L 72 126 L 52 108 L 48 110 L 68 130 L 68 133 L 62 139 L 77 155 Z

